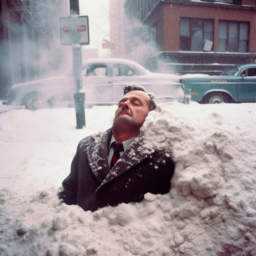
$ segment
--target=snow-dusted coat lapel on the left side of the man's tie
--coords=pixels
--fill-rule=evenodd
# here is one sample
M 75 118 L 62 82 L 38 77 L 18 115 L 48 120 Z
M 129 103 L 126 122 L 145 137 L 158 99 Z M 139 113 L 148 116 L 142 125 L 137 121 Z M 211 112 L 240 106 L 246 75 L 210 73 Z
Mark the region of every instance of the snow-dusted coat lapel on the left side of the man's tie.
M 112 136 L 112 128 L 92 135 L 92 143 L 85 149 L 90 168 L 100 183 L 110 171 L 108 166 L 108 140 L 110 140 L 110 136 Z

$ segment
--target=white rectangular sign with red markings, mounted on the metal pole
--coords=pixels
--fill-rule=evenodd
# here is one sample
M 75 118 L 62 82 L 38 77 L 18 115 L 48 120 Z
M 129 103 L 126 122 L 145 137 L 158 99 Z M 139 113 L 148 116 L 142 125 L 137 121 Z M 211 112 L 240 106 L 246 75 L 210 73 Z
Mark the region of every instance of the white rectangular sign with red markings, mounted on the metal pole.
M 61 44 L 90 44 L 88 16 L 60 18 Z

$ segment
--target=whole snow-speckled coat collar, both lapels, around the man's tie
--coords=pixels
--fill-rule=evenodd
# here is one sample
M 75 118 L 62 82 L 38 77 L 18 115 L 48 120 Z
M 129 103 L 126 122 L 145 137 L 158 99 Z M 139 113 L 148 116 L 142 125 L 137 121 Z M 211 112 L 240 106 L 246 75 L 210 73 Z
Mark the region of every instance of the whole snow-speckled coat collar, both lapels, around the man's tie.
M 127 172 L 155 152 L 152 145 L 148 146 L 145 143 L 145 135 L 143 132 L 140 132 L 110 171 L 108 166 L 108 141 L 110 141 L 111 136 L 112 128 L 93 135 L 92 139 L 94 141 L 90 147 L 86 148 L 88 163 L 93 174 L 101 183 L 99 188 Z

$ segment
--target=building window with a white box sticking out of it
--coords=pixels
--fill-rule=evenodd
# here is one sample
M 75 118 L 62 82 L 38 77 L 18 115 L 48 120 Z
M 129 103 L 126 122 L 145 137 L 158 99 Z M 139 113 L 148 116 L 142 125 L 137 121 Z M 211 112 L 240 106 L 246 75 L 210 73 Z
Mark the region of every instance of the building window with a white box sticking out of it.
M 200 52 L 203 41 L 213 41 L 213 20 L 180 18 L 180 50 Z

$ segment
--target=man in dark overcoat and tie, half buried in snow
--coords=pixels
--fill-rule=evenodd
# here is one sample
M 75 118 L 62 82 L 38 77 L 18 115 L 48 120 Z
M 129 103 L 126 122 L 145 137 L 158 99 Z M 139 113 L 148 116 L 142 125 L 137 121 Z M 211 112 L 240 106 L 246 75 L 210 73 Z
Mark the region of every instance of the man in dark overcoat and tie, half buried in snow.
M 148 147 L 140 132 L 157 102 L 142 86 L 124 87 L 113 127 L 79 142 L 59 193 L 64 203 L 96 211 L 107 205 L 140 202 L 147 192 L 169 192 L 174 171 L 171 152 Z

